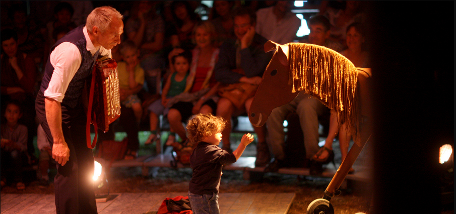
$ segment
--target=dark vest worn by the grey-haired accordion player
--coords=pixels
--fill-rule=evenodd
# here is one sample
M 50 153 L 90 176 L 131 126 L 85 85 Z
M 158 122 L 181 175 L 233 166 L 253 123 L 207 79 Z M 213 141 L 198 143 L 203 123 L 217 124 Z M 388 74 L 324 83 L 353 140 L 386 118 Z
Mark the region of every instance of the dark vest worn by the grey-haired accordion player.
M 98 57 L 97 52 L 94 56 L 87 50 L 87 41 L 83 33 L 84 25 L 79 26 L 72 31 L 70 31 L 67 35 L 63 36 L 60 40 L 58 40 L 50 49 L 49 53 L 52 53 L 55 47 L 63 42 L 70 42 L 78 47 L 79 52 L 81 53 L 82 61 L 81 66 L 79 67 L 78 71 L 76 71 L 75 76 L 70 81 L 68 85 L 67 91 L 65 92 L 65 96 L 63 97 L 62 104 L 68 105 L 71 108 L 75 108 L 76 105 L 80 101 L 80 96 L 84 87 L 84 83 L 88 80 L 90 84 L 90 77 L 92 77 L 92 70 L 95 64 L 95 61 Z M 50 54 L 49 54 L 50 56 Z M 54 67 L 50 63 L 50 57 L 47 59 L 47 64 L 44 69 L 43 79 L 41 81 L 40 91 L 44 93 L 44 91 L 49 86 L 49 81 L 52 77 L 52 73 L 54 72 Z

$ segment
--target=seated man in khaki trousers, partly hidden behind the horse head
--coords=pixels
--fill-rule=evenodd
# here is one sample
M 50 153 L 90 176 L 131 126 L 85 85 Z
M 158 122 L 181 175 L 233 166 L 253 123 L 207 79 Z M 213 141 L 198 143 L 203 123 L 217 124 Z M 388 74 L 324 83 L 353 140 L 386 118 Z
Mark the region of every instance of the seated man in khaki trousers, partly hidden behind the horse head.
M 327 18 L 321 15 L 311 17 L 308 20 L 308 26 L 310 28 L 308 43 L 331 48 L 335 51 L 341 50 L 339 43 L 329 40 L 330 23 Z M 284 153 L 285 132 L 283 122 L 292 111 L 296 111 L 298 114 L 304 135 L 306 160 L 303 160 L 303 162 L 310 160 L 310 173 L 320 174 L 322 173 L 322 164 L 312 160 L 313 155 L 320 149 L 318 146 L 318 117 L 329 115 L 330 110 L 318 99 L 304 92 L 300 92 L 290 103 L 274 109 L 268 121 L 266 121 L 271 140 L 269 141 L 270 148 L 274 159 L 267 165 L 265 171 L 274 172 L 283 166 L 283 160 L 286 158 Z

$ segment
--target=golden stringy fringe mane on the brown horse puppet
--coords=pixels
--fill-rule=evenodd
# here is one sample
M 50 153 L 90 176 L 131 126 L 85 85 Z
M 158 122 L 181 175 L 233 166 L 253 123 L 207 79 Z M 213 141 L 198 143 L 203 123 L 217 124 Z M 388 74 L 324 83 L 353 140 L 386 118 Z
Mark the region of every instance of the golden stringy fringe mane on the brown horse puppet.
M 338 113 L 339 127 L 347 122 L 353 141 L 359 145 L 356 67 L 329 48 L 305 43 L 288 43 L 288 47 L 292 92 L 304 91 Z

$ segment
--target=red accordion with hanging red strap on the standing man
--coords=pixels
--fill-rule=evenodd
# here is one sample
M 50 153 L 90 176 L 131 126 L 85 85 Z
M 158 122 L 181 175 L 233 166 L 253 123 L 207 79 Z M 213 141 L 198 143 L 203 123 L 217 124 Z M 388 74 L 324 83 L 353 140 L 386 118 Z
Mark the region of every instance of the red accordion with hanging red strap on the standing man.
M 103 56 L 95 62 L 87 114 L 88 133 L 90 133 L 90 123 L 95 127 L 94 143 L 90 146 L 90 136 L 88 136 L 87 146 L 94 148 L 97 129 L 107 132 L 109 130 L 109 124 L 120 117 L 117 63 L 112 58 Z

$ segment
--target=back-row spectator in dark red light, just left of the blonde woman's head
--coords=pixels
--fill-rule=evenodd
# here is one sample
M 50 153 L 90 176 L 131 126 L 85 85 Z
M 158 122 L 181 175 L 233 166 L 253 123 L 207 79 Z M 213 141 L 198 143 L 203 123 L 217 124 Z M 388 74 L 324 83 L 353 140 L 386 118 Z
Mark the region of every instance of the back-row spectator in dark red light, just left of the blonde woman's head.
M 174 32 L 171 35 L 172 47 L 180 47 L 184 50 L 192 50 L 195 46 L 192 41 L 192 32 L 200 20 L 198 14 L 194 13 L 188 1 L 173 1 L 171 10 L 175 21 Z

